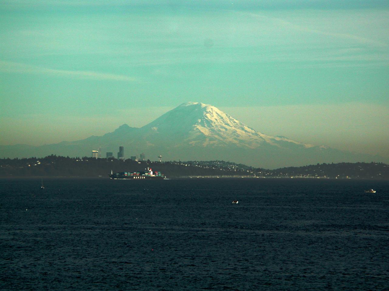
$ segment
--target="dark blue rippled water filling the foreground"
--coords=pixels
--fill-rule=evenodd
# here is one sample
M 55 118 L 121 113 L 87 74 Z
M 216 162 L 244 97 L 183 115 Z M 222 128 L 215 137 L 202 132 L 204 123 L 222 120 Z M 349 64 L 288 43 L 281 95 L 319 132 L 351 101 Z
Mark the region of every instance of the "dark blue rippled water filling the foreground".
M 100 178 L 45 186 L 0 180 L 0 289 L 389 288 L 388 181 Z M 377 194 L 363 194 L 368 188 Z

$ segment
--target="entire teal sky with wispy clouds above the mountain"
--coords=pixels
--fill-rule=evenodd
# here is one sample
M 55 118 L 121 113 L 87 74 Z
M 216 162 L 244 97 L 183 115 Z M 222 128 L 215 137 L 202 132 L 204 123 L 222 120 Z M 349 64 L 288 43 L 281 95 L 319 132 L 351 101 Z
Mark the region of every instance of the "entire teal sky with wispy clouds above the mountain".
M 387 1 L 256 2 L 0 1 L 0 143 L 102 135 L 194 101 L 389 156 Z

